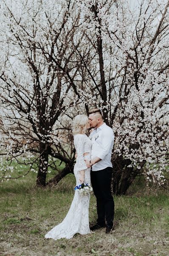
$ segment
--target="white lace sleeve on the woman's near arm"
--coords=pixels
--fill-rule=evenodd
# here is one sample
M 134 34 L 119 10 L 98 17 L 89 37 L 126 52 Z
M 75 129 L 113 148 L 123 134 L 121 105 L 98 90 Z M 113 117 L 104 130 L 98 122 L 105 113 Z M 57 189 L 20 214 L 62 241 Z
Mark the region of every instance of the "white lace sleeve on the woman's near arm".
M 76 168 L 78 169 L 78 171 L 85 170 L 85 169 L 87 169 L 87 166 L 85 164 L 85 160 L 83 157 L 84 140 L 83 140 L 82 135 L 80 135 L 80 136 L 76 135 L 76 137 L 74 139 L 74 144 L 75 144 L 75 148 L 77 151 Z

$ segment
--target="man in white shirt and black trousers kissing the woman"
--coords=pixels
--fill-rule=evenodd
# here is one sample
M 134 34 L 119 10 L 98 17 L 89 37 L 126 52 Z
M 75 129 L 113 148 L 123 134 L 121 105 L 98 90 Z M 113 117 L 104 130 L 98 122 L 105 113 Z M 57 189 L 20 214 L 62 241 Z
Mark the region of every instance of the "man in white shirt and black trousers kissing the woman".
M 112 163 L 111 154 L 114 143 L 112 128 L 103 121 L 101 111 L 97 108 L 89 111 L 90 134 L 92 141 L 91 160 L 85 160 L 91 166 L 91 183 L 97 201 L 97 223 L 90 230 L 106 227 L 106 233 L 113 230 L 114 201 L 111 193 Z

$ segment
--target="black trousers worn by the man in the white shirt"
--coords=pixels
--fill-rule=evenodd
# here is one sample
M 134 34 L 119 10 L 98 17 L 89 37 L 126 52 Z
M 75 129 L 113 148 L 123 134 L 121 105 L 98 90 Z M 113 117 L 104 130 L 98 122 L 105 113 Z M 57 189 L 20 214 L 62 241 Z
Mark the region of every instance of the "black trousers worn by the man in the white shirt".
M 112 226 L 114 219 L 114 200 L 111 193 L 112 167 L 91 171 L 91 183 L 97 201 L 97 224 Z

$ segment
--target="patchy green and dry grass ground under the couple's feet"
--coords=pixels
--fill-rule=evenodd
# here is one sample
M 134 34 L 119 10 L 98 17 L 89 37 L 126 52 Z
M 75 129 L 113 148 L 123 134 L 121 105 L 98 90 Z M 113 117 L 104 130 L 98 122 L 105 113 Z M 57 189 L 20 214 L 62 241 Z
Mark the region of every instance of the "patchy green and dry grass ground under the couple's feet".
M 168 256 L 169 197 L 146 193 L 133 184 L 127 196 L 115 196 L 115 230 L 98 230 L 72 239 L 45 239 L 59 224 L 73 199 L 75 178 L 67 175 L 53 189 L 34 186 L 36 174 L 0 185 L 0 256 Z M 90 223 L 96 200 L 90 200 Z

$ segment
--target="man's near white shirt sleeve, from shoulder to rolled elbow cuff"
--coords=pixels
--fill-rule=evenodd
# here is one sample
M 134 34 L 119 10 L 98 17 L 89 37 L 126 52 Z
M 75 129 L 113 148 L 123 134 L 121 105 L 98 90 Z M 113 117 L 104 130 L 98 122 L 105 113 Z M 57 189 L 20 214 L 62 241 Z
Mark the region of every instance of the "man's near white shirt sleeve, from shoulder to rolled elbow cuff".
M 104 158 L 109 153 L 110 147 L 112 145 L 112 140 L 114 142 L 114 133 L 112 129 L 109 129 L 108 131 L 106 131 L 106 133 L 102 134 L 102 148 L 101 151 L 98 152 L 96 155 L 101 160 L 104 160 Z

